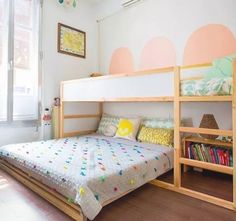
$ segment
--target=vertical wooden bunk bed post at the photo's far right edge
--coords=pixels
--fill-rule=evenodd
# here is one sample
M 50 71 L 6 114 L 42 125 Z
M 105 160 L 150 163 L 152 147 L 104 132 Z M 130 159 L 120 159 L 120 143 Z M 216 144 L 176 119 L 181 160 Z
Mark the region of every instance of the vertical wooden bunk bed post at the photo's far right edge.
M 233 125 L 233 207 L 236 210 L 236 59 L 233 60 L 233 97 L 232 97 L 232 125 Z

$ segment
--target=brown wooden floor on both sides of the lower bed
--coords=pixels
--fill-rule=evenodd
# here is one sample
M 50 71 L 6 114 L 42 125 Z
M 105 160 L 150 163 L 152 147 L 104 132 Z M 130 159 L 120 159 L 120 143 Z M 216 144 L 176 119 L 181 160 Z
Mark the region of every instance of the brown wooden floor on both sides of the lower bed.
M 1 221 L 71 221 L 0 171 Z M 236 221 L 236 213 L 147 184 L 106 206 L 95 221 Z

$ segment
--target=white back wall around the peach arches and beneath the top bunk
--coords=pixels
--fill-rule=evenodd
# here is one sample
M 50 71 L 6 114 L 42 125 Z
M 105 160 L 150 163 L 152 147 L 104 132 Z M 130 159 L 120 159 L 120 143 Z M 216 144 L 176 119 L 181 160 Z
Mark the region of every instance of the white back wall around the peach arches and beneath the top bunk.
M 121 8 L 120 1 L 104 0 L 97 7 L 97 18 L 101 19 L 100 71 L 105 74 L 109 72 L 112 53 L 119 47 L 131 50 L 138 70 L 141 51 L 153 37 L 170 39 L 176 48 L 177 64 L 182 64 L 187 39 L 197 28 L 219 23 L 236 35 L 235 0 L 143 0 L 126 9 Z M 123 116 L 173 116 L 173 106 L 166 103 L 106 104 L 104 110 Z M 183 105 L 183 117 L 190 118 L 190 124 L 192 121 L 196 127 L 204 113 L 213 113 L 221 128 L 232 127 L 229 103 Z

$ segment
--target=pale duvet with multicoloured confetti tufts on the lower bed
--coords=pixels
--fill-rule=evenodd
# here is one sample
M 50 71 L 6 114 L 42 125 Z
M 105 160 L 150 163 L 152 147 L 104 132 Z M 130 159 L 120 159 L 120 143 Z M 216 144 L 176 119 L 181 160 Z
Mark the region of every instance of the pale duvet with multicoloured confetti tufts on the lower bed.
M 102 204 L 173 168 L 173 148 L 104 136 L 8 145 L 0 157 L 81 206 L 94 219 Z

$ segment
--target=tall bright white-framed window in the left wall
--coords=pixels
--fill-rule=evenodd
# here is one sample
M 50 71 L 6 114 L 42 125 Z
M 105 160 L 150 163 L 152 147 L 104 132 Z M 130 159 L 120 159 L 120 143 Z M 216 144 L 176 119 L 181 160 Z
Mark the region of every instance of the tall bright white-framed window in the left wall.
M 38 119 L 39 0 L 0 0 L 0 121 Z

